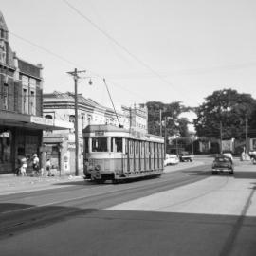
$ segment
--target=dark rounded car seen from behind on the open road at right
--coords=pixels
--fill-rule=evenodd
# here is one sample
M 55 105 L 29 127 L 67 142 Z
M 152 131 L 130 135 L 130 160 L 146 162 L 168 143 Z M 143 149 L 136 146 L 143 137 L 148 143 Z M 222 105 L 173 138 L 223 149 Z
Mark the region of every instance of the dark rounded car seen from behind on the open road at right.
M 229 173 L 234 174 L 233 161 L 226 155 L 218 155 L 215 157 L 211 168 L 212 174 Z

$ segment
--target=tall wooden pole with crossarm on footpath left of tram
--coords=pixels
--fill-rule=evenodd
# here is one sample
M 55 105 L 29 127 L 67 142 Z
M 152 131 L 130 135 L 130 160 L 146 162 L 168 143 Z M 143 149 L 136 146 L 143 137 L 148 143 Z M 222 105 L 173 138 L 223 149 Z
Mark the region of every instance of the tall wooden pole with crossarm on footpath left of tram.
M 78 71 L 75 68 L 74 71 L 67 72 L 67 74 L 73 76 L 75 82 L 75 175 L 79 175 L 79 133 L 78 133 L 78 80 L 79 74 L 85 73 L 85 70 Z

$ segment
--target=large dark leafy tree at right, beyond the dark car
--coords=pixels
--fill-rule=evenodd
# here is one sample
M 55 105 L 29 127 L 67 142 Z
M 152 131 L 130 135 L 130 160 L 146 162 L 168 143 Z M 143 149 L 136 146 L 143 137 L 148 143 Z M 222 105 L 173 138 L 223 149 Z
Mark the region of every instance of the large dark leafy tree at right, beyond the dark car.
M 197 119 L 193 120 L 199 137 L 245 137 L 246 119 L 252 123 L 256 101 L 249 94 L 236 90 L 214 91 L 199 107 L 195 108 Z

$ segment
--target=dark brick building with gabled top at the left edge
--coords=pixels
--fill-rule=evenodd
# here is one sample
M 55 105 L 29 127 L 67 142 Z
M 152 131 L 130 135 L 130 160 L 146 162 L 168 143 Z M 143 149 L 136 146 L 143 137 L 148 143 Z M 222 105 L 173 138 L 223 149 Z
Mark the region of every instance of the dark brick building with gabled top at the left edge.
M 42 69 L 11 50 L 0 12 L 0 174 L 14 172 L 19 156 L 37 153 L 43 159 L 43 130 L 66 128 L 43 117 Z

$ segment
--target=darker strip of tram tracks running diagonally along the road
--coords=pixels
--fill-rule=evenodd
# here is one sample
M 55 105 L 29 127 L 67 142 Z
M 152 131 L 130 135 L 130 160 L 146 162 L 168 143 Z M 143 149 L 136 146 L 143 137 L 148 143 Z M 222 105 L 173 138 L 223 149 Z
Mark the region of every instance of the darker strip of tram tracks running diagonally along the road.
M 198 167 L 196 169 L 198 170 Z M 200 167 L 200 169 L 204 170 L 203 167 Z M 159 179 L 147 179 L 112 186 L 96 185 L 97 187 L 94 187 L 93 191 L 100 188 L 100 192 L 92 192 L 81 197 L 69 197 L 61 201 L 42 205 L 24 206 L 23 209 L 18 210 L 4 211 L 0 214 L 0 238 L 27 229 L 38 229 L 58 221 L 63 221 L 65 218 L 88 214 L 94 210 L 109 208 L 119 203 L 154 194 L 155 192 L 172 190 L 206 177 L 208 175 L 191 175 L 184 171 L 183 174 L 180 174 L 180 172 L 179 174 L 164 174 L 163 178 Z M 79 192 L 89 192 L 92 191 L 91 189 L 91 187 L 90 189 L 83 188 L 79 189 Z M 46 192 L 45 195 L 49 196 L 50 194 L 53 195 L 54 192 L 51 190 L 49 193 Z M 33 195 L 29 194 L 29 196 Z M 39 195 L 34 196 L 34 198 L 38 198 L 37 196 Z

